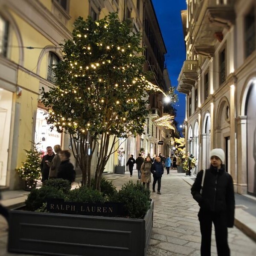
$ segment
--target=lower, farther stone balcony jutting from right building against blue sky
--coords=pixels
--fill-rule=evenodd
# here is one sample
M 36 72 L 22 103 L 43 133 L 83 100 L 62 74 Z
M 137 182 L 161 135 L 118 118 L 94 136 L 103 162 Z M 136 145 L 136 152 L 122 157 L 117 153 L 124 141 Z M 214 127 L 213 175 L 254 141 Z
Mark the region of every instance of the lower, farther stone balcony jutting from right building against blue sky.
M 195 81 L 198 79 L 198 61 L 186 60 L 183 63 L 180 75 L 178 77 L 177 91 L 180 93 L 189 94 Z

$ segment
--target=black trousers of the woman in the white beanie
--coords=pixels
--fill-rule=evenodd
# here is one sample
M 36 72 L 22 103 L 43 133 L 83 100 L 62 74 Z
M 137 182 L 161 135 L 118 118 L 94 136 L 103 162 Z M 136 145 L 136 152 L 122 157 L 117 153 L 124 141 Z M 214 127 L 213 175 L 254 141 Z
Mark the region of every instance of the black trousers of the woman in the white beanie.
M 227 241 L 227 213 L 210 212 L 200 209 L 198 213 L 201 230 L 201 255 L 211 256 L 212 222 L 215 227 L 215 240 L 218 256 L 230 256 Z

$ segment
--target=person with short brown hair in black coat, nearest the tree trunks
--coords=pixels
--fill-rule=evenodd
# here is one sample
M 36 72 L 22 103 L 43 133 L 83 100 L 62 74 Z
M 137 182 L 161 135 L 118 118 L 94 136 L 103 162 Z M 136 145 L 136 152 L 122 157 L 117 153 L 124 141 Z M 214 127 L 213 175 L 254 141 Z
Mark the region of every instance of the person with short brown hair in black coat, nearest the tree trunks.
M 76 172 L 74 166 L 70 163 L 70 152 L 63 150 L 59 153 L 61 164 L 58 168 L 58 178 L 69 180 L 72 183 L 75 180 Z

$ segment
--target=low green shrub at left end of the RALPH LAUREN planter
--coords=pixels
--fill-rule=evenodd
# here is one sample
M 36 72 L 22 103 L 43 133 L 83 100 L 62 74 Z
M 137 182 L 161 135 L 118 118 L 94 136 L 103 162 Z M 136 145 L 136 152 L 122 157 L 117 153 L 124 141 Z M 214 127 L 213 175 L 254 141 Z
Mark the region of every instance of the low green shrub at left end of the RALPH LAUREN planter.
M 46 203 L 46 198 L 65 198 L 62 190 L 58 190 L 51 186 L 42 186 L 40 189 L 32 190 L 25 201 L 26 209 L 35 211 Z

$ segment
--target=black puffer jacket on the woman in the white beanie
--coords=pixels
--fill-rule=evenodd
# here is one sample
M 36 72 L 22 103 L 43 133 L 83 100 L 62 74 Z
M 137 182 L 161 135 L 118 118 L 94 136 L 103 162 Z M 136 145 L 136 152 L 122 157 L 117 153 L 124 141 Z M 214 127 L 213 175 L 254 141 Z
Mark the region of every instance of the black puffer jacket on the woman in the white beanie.
M 233 179 L 225 170 L 210 166 L 204 177 L 204 187 L 202 195 L 201 181 L 203 170 L 201 170 L 195 183 L 191 188 L 191 194 L 198 202 L 202 210 L 211 212 L 227 212 L 227 227 L 233 227 L 235 212 L 235 195 Z

